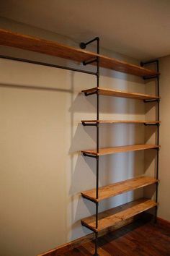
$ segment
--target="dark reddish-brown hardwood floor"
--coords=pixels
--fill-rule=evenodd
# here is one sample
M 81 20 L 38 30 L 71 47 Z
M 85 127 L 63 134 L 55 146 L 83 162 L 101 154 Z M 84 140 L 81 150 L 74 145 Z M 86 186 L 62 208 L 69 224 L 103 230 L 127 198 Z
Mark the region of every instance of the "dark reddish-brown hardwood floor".
M 88 242 L 60 256 L 91 256 Z M 100 256 L 170 256 L 170 229 L 151 221 L 135 221 L 99 238 Z

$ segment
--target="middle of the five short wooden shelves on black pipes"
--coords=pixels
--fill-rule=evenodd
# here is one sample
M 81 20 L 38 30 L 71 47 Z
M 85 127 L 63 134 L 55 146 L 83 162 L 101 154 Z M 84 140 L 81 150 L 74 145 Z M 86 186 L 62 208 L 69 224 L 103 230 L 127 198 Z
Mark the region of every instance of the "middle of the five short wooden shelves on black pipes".
M 128 145 L 128 146 L 118 146 L 112 148 L 99 148 L 99 153 L 97 150 L 81 150 L 81 153 L 86 153 L 89 155 L 109 155 L 114 153 L 123 153 L 128 151 L 136 150 L 147 150 L 151 148 L 159 148 L 159 145 L 148 145 L 148 144 L 138 144 L 138 145 Z

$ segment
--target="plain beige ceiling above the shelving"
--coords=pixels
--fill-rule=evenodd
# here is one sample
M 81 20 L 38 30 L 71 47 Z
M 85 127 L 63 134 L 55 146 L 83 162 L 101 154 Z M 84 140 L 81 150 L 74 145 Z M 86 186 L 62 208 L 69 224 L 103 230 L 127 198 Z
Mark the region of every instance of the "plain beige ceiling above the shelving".
M 136 59 L 170 54 L 170 0 L 0 0 L 0 16 Z

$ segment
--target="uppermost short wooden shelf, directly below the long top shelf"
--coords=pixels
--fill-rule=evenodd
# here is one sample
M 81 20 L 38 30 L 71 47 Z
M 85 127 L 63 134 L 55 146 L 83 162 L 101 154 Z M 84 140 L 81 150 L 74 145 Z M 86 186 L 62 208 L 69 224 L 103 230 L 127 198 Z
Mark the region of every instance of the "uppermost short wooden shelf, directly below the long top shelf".
M 113 97 L 120 97 L 120 98 L 134 98 L 136 100 L 156 100 L 160 97 L 156 95 L 148 95 L 148 94 L 141 94 L 141 93 L 128 93 L 123 90 L 113 90 L 108 88 L 90 88 L 87 90 L 82 90 L 82 93 L 86 95 L 91 93 L 99 93 L 99 95 L 107 95 Z

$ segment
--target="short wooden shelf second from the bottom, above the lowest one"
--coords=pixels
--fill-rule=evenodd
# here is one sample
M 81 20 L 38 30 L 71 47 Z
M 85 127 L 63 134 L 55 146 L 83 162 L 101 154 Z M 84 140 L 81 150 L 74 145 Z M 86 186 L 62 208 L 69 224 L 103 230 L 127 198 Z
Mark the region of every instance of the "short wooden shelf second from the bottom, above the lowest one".
M 122 193 L 128 192 L 130 190 L 139 189 L 140 187 L 146 187 L 150 184 L 158 182 L 158 179 L 149 176 L 140 176 L 133 179 L 128 179 L 123 182 L 118 182 L 115 184 L 109 184 L 104 187 L 99 187 L 99 198 L 96 198 L 96 189 L 90 189 L 81 192 L 81 195 L 88 200 L 99 202 L 109 197 L 115 197 Z

